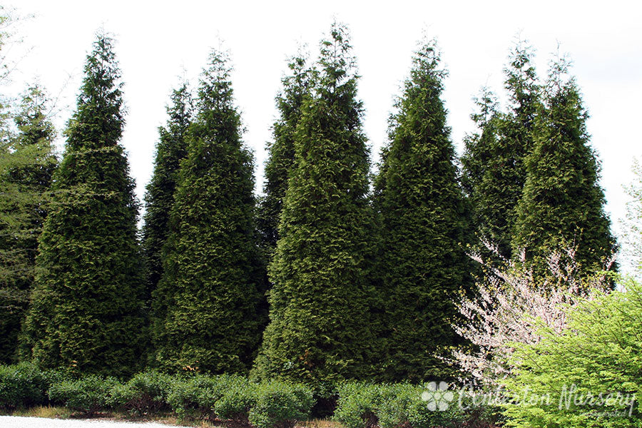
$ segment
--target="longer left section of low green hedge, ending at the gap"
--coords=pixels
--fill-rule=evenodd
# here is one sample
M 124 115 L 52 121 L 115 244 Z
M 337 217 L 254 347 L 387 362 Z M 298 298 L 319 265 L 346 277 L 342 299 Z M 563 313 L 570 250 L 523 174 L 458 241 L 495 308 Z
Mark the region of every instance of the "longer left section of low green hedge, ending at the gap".
M 0 366 L 0 408 L 13 411 L 41 404 L 85 416 L 112 410 L 137 416 L 173 412 L 180 418 L 292 428 L 310 417 L 315 399 L 301 384 L 250 382 L 230 374 L 184 377 L 148 371 L 120 382 L 96 375 L 72 379 L 29 363 Z

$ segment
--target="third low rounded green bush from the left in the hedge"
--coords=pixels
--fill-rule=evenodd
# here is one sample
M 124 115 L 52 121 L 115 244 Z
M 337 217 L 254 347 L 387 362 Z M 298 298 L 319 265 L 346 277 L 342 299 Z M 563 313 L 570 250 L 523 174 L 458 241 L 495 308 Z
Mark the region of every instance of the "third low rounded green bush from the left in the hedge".
M 142 372 L 126 384 L 116 384 L 111 390 L 111 405 L 117 409 L 143 415 L 168 409 L 168 396 L 174 377 L 160 372 Z

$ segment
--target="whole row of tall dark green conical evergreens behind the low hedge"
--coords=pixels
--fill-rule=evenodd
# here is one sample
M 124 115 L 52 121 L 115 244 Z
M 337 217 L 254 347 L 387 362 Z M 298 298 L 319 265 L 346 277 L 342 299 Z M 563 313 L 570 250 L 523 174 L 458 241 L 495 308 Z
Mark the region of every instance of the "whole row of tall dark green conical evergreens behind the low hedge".
M 425 41 L 371 179 L 355 57 L 335 24 L 317 61 L 289 63 L 265 195 L 255 198 L 230 64 L 213 51 L 195 96 L 186 83 L 173 91 L 141 245 L 120 143 L 121 76 L 111 39 L 99 34 L 53 176 L 1 178 L 47 195 L 36 207 L 46 220 L 28 242 L 2 223 L 11 238 L 3 257 L 33 255 L 39 235 L 30 276 L 3 275 L 2 299 L 19 290 L 30 297 L 0 305 L 11 312 L 0 321 L 2 359 L 117 377 L 143 367 L 251 370 L 317 391 L 342 379 L 452 377 L 439 355 L 462 342 L 453 301 L 472 289 L 467 250 L 480 237 L 506 258 L 525 249 L 534 266 L 576 246 L 586 273 L 613 250 L 586 111 L 566 63 L 554 64 L 540 83 L 531 50 L 516 47 L 506 67 L 509 109 L 484 93 L 473 115 L 479 133 L 467 138 L 458 168 L 442 101 L 447 72 Z M 29 125 L 18 135 L 39 131 L 34 142 L 51 148 L 51 126 L 34 111 L 16 119 Z M 6 158 L 24 153 L 20 144 L 6 145 Z

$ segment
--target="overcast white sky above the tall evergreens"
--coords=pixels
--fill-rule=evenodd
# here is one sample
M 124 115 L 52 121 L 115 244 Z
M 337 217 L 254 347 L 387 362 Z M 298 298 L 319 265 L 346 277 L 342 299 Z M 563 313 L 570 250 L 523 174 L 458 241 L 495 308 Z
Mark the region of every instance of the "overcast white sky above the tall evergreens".
M 257 180 L 263 182 L 265 142 L 275 119 L 274 96 L 297 44 L 313 56 L 333 19 L 352 33 L 359 64 L 360 97 L 373 161 L 385 141 L 387 116 L 399 93 L 412 51 L 424 29 L 436 36 L 450 75 L 444 101 L 452 138 L 473 130 L 472 96 L 488 84 L 501 92 L 502 68 L 516 35 L 536 48 L 540 76 L 557 49 L 574 60 L 572 72 L 584 92 L 592 135 L 603 163 L 602 185 L 613 223 L 624 213 L 622 185 L 631 162 L 642 154 L 642 6 L 635 1 L 9 1 L 19 14 L 35 14 L 16 29 L 33 49 L 14 82 L 44 84 L 61 93 L 61 129 L 73 109 L 86 53 L 96 29 L 116 36 L 127 126 L 123 145 L 142 197 L 152 171 L 157 127 L 180 76 L 196 81 L 210 47 L 223 39 L 235 71 L 233 86 L 255 151 Z M 68 78 L 71 76 L 71 79 Z M 65 84 L 66 83 L 66 84 Z M 260 186 L 258 186 L 260 188 Z

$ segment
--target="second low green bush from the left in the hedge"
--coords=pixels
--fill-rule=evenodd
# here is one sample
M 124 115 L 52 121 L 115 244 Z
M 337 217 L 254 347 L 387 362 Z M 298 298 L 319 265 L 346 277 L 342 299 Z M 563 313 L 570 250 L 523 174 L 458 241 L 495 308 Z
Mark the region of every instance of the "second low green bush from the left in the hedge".
M 113 377 L 91 375 L 78 380 L 63 380 L 49 388 L 51 402 L 62 404 L 73 412 L 92 415 L 111 404 L 111 391 L 118 387 Z

